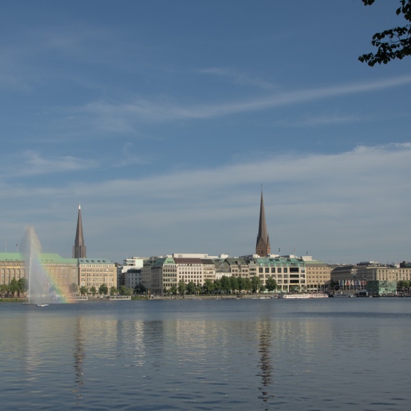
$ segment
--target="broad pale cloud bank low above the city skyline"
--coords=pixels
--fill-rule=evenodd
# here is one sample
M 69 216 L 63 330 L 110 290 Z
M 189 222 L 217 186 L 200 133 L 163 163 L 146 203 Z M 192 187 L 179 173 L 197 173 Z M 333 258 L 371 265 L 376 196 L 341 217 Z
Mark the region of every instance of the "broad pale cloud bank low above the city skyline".
M 54 158 L 44 164 L 32 157 L 39 169 L 53 169 L 56 162 Z M 82 201 L 88 242 L 104 247 L 101 238 L 107 238 L 107 249 L 112 249 L 113 242 L 123 258 L 136 253 L 135 247 L 145 255 L 219 253 L 227 247 L 239 254 L 253 251 L 263 184 L 272 247 L 289 253 L 294 247 L 297 253 L 310 249 L 317 258 L 332 259 L 342 253 L 353 258 L 362 253 L 358 258 L 378 260 L 386 252 L 386 238 L 390 238 L 390 250 L 406 258 L 400 254 L 409 249 L 404 222 L 409 220 L 410 173 L 408 142 L 359 146 L 332 155 L 266 155 L 258 162 L 149 177 L 98 182 L 77 177 L 55 188 L 3 184 L 0 197 L 7 199 L 9 208 L 3 217 L 10 221 L 21 224 L 22 216 L 25 220 L 48 213 L 45 227 L 39 223 L 40 231 L 52 230 L 54 220 L 62 224 L 62 216 L 74 213 L 75 219 L 71 208 Z M 27 203 L 29 210 L 22 211 Z M 74 224 L 66 221 L 64 231 Z M 123 233 L 136 227 L 139 234 L 130 244 Z M 113 235 L 107 236 L 109 232 Z

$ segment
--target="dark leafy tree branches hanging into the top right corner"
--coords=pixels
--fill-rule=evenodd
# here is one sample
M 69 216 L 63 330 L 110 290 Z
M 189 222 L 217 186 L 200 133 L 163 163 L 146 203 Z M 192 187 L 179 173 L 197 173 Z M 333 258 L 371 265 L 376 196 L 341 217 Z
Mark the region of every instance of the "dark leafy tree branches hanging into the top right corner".
M 364 5 L 371 5 L 375 0 L 362 0 Z M 397 16 L 403 14 L 406 21 L 411 22 L 411 0 L 399 0 L 400 7 L 397 8 Z M 406 24 L 402 27 L 384 30 L 375 33 L 371 45 L 377 47 L 377 53 L 360 55 L 358 60 L 366 62 L 369 66 L 375 64 L 387 64 L 391 60 L 398 58 L 402 60 L 406 55 L 411 54 L 411 25 Z

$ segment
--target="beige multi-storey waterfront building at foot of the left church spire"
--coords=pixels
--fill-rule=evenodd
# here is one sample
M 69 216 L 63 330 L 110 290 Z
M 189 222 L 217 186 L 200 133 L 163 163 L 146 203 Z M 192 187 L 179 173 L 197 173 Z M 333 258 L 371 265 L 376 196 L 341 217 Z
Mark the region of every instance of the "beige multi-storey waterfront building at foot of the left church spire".
M 79 286 L 86 287 L 90 291 L 95 287 L 97 291 L 101 284 L 117 288 L 116 264 L 106 258 L 79 258 Z

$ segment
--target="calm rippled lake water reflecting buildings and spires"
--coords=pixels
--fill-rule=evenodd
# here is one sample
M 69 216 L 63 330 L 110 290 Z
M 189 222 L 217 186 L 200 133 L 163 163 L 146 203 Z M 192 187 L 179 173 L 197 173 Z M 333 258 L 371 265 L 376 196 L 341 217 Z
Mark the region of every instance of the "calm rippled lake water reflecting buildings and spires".
M 409 410 L 411 298 L 0 303 L 4 410 Z

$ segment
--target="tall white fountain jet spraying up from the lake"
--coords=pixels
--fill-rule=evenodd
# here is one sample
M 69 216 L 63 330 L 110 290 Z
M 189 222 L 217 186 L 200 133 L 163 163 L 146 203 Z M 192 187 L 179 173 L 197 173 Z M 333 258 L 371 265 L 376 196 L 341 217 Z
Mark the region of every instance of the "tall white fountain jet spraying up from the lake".
M 47 301 L 47 275 L 40 264 L 41 245 L 33 226 L 25 229 L 22 251 L 25 256 L 29 303 L 44 304 Z

